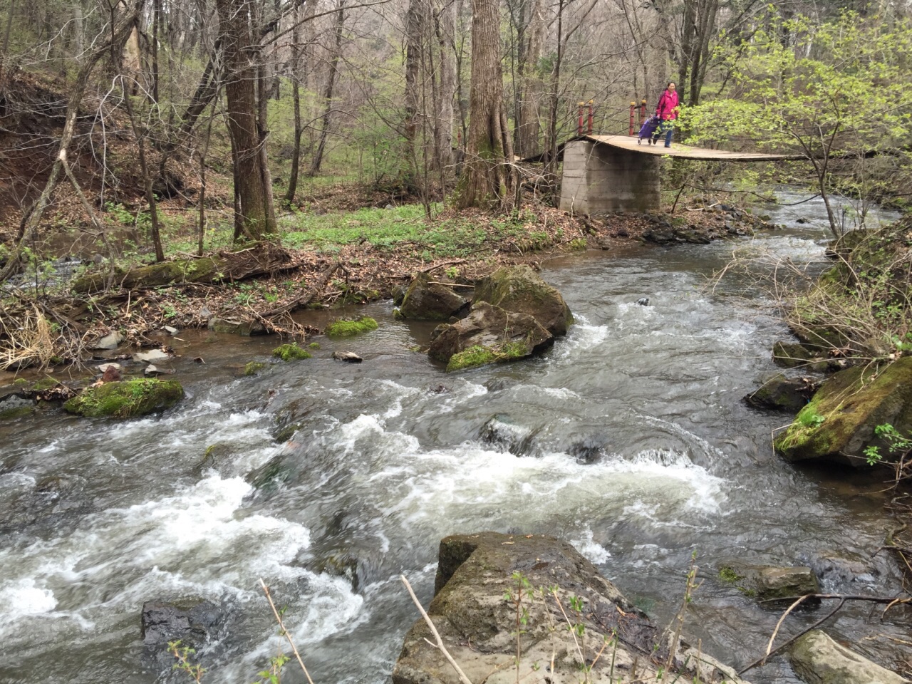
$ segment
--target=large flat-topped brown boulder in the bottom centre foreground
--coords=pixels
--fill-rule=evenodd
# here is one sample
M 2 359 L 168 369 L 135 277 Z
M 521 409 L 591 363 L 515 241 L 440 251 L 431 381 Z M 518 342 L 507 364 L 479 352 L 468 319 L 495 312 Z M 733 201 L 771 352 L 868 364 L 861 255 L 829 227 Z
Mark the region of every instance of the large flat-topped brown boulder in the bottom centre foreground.
M 471 681 L 578 681 L 586 668 L 594 683 L 675 679 L 657 679 L 668 663 L 662 631 L 570 544 L 532 534 L 456 534 L 440 542 L 439 561 L 427 612 Z M 457 684 L 434 643 L 418 619 L 393 684 Z M 681 681 L 741 682 L 731 668 L 680 642 L 671 661 Z

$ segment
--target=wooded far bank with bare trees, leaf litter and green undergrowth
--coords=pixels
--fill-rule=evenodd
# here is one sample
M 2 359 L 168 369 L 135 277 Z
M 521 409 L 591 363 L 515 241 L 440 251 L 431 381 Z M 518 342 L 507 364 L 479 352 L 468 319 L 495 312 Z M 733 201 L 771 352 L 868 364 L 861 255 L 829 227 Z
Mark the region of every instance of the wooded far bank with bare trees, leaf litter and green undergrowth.
M 554 210 L 580 105 L 596 132 L 626 134 L 631 104 L 638 119 L 669 80 L 679 139 L 803 157 L 668 162 L 669 198 L 799 181 L 840 234 L 870 202 L 904 207 L 912 180 L 906 0 L 0 8 L 7 363 L 239 308 L 295 332 L 295 307 L 386 295 L 418 267 L 471 275 L 498 252 L 585 247 Z M 130 277 L 166 260 L 178 270 Z

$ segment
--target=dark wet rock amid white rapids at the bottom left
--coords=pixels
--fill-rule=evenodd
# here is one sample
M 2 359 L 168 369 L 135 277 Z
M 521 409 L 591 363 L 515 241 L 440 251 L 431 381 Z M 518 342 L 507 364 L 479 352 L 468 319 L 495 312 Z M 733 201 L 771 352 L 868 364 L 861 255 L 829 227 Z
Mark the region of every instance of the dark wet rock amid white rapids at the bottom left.
M 147 601 L 142 604 L 140 638 L 150 647 L 165 647 L 175 639 L 184 646 L 202 645 L 217 637 L 224 622 L 224 608 L 202 598 L 174 603 Z

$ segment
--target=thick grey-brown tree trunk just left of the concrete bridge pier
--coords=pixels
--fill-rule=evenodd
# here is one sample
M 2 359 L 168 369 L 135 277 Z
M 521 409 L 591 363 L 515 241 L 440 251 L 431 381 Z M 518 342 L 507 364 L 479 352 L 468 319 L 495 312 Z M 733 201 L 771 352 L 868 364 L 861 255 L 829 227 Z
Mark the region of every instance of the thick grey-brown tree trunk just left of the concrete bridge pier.
M 465 167 L 455 203 L 509 210 L 516 185 L 503 104 L 497 0 L 472 0 L 472 92 Z

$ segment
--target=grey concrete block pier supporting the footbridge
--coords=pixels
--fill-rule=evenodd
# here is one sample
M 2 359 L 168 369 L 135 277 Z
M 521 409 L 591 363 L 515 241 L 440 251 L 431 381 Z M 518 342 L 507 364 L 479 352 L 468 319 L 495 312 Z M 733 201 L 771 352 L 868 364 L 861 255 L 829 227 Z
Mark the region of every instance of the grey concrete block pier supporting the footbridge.
M 660 159 L 655 153 L 622 150 L 596 140 L 568 142 L 560 208 L 589 214 L 658 212 Z

